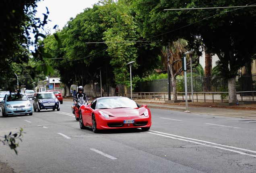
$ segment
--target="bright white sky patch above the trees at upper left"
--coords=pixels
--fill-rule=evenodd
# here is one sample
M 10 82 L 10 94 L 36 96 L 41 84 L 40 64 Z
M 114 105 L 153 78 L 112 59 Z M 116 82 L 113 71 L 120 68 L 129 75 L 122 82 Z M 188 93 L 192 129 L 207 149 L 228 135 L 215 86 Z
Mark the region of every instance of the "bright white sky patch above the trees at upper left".
M 71 17 L 75 18 L 76 15 L 83 12 L 85 8 L 92 8 L 93 4 L 98 1 L 99 0 L 41 0 L 37 3 L 36 16 L 43 19 L 43 13 L 46 14 L 47 12 L 45 7 L 48 8 L 50 12 L 48 19 L 51 21 L 49 21 L 44 28 L 53 34 L 56 24 L 59 29 L 62 29 Z

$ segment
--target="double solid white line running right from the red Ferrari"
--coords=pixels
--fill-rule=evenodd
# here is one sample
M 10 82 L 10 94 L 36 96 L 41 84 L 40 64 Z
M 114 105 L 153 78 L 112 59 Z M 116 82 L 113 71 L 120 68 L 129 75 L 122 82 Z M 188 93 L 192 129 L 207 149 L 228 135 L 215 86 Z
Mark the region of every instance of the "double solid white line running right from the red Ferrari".
M 151 130 L 152 131 L 152 130 Z M 168 137 L 166 135 L 170 135 L 170 136 L 175 136 L 175 137 L 180 137 L 180 138 L 184 138 L 184 139 L 179 139 L 179 138 L 173 138 L 173 139 L 178 139 L 178 140 L 185 140 L 185 139 L 190 139 L 190 140 L 194 140 L 194 141 L 200 141 L 200 142 L 203 142 L 203 143 L 208 143 L 208 144 L 212 144 L 212 145 L 219 145 L 221 147 L 219 147 L 220 149 L 225 149 L 225 148 L 222 148 L 222 147 L 228 147 L 228 148 L 232 148 L 232 149 L 238 149 L 238 150 L 242 150 L 242 151 L 247 151 L 247 152 L 250 152 L 250 153 L 256 153 L 256 151 L 253 151 L 253 150 L 248 150 L 248 149 L 243 149 L 243 148 L 239 148 L 239 147 L 232 147 L 232 146 L 229 146 L 229 145 L 221 145 L 221 144 L 217 144 L 217 143 L 212 143 L 212 142 L 208 142 L 208 141 L 202 141 L 202 140 L 198 140 L 198 139 L 193 139 L 193 138 L 188 138 L 188 137 L 182 137 L 182 136 L 178 136 L 178 135 L 172 135 L 172 134 L 168 134 L 168 133 L 163 133 L 163 132 L 159 132 L 159 131 L 153 131 L 153 132 L 156 132 L 156 133 L 152 133 L 152 134 L 155 134 L 155 135 L 160 135 L 160 134 L 157 134 L 157 133 L 162 133 L 162 134 L 165 134 L 163 136 L 165 137 Z M 148 132 L 148 133 L 151 133 L 151 132 Z M 188 142 L 192 142 L 192 143 L 196 143 L 194 141 L 189 141 L 189 140 L 186 140 Z M 198 143 L 198 144 L 202 144 L 202 145 L 206 145 L 206 144 L 203 144 L 203 143 Z M 212 145 L 209 145 L 211 147 L 215 147 L 215 146 L 212 146 Z M 217 147 L 216 147 L 217 148 Z M 227 149 L 228 150 L 228 149 Z M 235 150 L 233 150 L 235 151 Z M 237 151 L 237 152 L 240 152 L 240 151 Z M 248 155 L 247 153 L 245 153 L 246 155 Z M 252 155 L 251 155 L 252 156 Z M 253 155 L 253 157 L 255 157 L 256 155 Z

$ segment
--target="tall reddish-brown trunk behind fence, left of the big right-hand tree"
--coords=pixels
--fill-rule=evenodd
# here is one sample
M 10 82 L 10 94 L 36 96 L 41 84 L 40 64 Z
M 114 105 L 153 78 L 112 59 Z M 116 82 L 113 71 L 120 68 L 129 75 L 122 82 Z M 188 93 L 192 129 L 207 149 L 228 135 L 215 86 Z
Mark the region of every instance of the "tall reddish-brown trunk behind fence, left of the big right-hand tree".
M 205 67 L 204 67 L 204 91 L 210 92 L 212 87 L 212 56 L 205 48 Z

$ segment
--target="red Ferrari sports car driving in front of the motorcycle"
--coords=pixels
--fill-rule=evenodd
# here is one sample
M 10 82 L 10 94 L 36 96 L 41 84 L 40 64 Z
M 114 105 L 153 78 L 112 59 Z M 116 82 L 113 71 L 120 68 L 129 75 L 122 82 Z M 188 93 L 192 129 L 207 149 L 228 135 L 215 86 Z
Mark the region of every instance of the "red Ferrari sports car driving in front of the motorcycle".
M 147 131 L 151 127 L 151 113 L 147 105 L 139 107 L 127 97 L 100 97 L 80 107 L 79 125 L 81 129 L 92 127 L 94 133 L 123 128 Z

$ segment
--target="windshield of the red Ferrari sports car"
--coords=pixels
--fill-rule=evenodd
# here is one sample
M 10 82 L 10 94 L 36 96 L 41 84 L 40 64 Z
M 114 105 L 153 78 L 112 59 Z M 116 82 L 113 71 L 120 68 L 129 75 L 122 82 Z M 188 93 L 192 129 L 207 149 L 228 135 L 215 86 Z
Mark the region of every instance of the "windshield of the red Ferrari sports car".
M 114 108 L 137 108 L 137 104 L 126 97 L 111 97 L 99 99 L 95 109 L 114 109 Z

